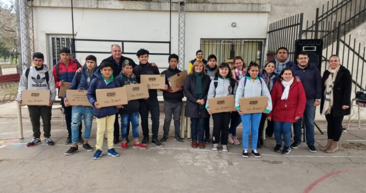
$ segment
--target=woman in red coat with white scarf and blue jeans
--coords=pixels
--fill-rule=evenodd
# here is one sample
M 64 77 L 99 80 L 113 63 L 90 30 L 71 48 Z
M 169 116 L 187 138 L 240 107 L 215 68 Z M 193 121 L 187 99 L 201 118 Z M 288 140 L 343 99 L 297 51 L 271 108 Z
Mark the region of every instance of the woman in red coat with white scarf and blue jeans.
M 294 81 L 290 68 L 282 70 L 271 90 L 271 98 L 273 110 L 267 115 L 267 119 L 274 121 L 273 134 L 277 143 L 274 150 L 281 151 L 281 136 L 283 136 L 285 147 L 282 154 L 288 154 L 291 151 L 291 125 L 302 117 L 306 105 L 306 95 L 302 83 Z

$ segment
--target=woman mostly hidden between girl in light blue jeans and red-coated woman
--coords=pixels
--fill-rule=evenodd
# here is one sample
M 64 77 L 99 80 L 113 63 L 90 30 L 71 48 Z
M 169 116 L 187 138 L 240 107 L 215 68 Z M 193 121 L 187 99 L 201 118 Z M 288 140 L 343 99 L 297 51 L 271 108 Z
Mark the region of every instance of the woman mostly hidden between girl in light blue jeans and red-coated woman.
M 266 83 L 269 92 L 272 90 L 273 84 L 275 84 L 277 77 L 279 76 L 275 73 L 276 64 L 272 61 L 267 62 L 264 65 L 262 73 L 259 74 L 259 77 L 263 78 Z M 263 128 L 264 121 L 266 120 L 266 114 L 262 114 L 261 122 L 259 123 L 259 136 L 258 136 L 258 145 L 257 148 L 260 148 L 263 145 Z M 267 121 L 266 135 L 272 137 L 273 135 L 273 121 Z

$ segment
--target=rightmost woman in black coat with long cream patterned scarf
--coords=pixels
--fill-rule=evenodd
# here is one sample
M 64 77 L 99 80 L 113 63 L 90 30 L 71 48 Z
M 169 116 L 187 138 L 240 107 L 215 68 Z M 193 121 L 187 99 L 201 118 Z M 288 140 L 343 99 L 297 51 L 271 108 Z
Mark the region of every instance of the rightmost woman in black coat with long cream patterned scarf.
M 323 92 L 320 112 L 327 120 L 328 143 L 320 150 L 334 153 L 342 135 L 342 120 L 350 114 L 352 77 L 349 70 L 340 65 L 337 55 L 329 57 L 329 68 L 322 78 Z

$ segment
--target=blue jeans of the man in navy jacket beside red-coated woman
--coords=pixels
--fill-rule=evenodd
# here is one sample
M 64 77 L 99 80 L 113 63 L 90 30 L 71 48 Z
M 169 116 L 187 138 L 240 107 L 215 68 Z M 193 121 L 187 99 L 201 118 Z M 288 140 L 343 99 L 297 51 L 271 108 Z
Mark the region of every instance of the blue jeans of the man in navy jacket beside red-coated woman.
M 305 120 L 305 134 L 306 134 L 306 141 L 307 145 L 314 145 L 314 119 L 315 119 L 315 110 L 316 107 L 313 106 L 314 99 L 308 99 L 305 107 L 305 111 L 303 117 L 297 120 L 293 124 L 294 128 L 294 141 L 297 143 L 301 143 L 301 124 L 302 119 Z

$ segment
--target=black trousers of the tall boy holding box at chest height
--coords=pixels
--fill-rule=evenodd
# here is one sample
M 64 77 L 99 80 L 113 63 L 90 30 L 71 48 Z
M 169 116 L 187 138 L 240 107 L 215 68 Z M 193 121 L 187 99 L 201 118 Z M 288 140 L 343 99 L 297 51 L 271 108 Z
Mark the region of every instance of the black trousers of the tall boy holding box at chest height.
M 148 137 L 148 113 L 150 112 L 151 121 L 153 125 L 151 126 L 151 132 L 153 133 L 153 139 L 158 139 L 159 133 L 159 117 L 160 117 L 160 108 L 158 98 L 148 98 L 148 100 L 139 100 L 140 109 L 139 113 L 141 116 L 141 127 L 142 127 L 142 135 L 144 137 Z

